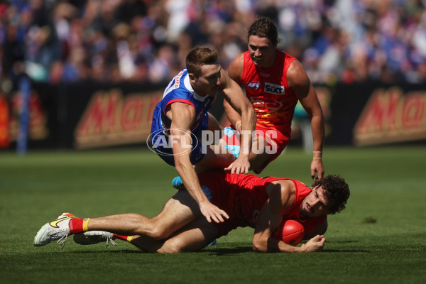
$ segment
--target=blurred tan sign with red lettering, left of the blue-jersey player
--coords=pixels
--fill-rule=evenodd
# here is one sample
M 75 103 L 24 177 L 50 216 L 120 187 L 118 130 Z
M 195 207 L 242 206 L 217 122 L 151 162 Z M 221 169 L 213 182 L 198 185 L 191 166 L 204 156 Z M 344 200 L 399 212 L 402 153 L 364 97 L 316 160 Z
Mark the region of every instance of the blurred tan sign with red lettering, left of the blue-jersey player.
M 74 132 L 76 148 L 144 143 L 162 92 L 123 95 L 121 89 L 97 91 Z

